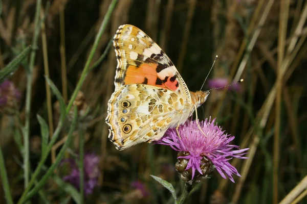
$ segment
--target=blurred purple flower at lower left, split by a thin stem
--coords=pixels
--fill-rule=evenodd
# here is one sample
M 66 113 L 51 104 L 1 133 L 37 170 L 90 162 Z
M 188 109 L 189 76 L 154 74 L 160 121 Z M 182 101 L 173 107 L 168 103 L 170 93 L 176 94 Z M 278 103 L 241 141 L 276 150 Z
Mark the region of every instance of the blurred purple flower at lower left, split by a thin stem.
M 77 189 L 80 188 L 80 172 L 77 163 L 72 159 L 65 159 L 61 165 L 68 163 L 71 168 L 69 175 L 63 177 L 65 182 L 68 182 L 75 186 Z M 99 157 L 95 154 L 84 155 L 84 193 L 89 195 L 93 193 L 95 186 L 98 184 L 99 176 Z

